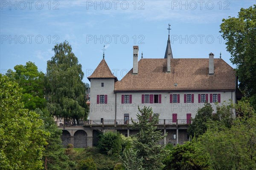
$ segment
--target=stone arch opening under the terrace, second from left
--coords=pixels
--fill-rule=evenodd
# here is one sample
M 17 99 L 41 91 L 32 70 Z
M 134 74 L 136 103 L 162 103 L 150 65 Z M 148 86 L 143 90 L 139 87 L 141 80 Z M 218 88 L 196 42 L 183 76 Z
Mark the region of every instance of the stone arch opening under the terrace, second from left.
M 74 147 L 75 148 L 87 147 L 87 133 L 84 130 L 77 130 L 74 133 Z

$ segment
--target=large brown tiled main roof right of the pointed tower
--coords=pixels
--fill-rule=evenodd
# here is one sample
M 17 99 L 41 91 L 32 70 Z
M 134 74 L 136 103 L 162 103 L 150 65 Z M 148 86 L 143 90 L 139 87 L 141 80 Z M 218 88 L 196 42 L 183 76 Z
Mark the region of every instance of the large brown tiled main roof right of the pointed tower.
M 138 74 L 131 69 L 115 82 L 114 90 L 236 90 L 236 72 L 224 60 L 214 59 L 214 75 L 208 70 L 209 58 L 171 59 L 171 72 L 167 72 L 167 59 L 144 58 L 138 62 Z

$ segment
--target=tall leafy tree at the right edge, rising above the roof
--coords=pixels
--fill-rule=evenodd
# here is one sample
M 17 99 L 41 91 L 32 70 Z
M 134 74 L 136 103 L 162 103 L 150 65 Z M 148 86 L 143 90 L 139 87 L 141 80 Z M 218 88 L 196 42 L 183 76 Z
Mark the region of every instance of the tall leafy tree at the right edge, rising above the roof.
M 256 109 L 256 5 L 241 8 L 238 17 L 223 19 L 220 25 L 222 37 L 227 40 L 231 62 L 236 64 L 239 88 Z

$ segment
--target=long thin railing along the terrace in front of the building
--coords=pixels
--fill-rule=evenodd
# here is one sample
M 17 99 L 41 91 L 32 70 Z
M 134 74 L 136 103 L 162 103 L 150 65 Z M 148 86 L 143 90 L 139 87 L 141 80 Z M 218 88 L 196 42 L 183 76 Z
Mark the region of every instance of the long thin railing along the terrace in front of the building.
M 139 120 L 133 120 L 134 122 L 138 123 Z M 180 125 L 180 124 L 191 124 L 191 120 L 187 119 L 159 119 L 158 125 Z M 128 125 L 133 124 L 131 119 L 125 121 L 124 119 L 104 119 L 104 120 L 87 120 L 87 121 L 79 121 L 79 126 L 89 126 L 89 125 Z M 63 126 L 73 126 L 70 124 L 63 124 Z

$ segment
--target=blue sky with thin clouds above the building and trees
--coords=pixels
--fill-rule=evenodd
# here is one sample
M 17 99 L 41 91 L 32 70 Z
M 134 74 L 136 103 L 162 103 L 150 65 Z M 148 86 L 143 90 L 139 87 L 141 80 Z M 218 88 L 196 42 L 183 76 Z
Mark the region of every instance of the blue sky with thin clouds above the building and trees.
M 223 18 L 237 16 L 256 0 L 0 0 L 0 71 L 34 62 L 46 72 L 55 43 L 67 40 L 86 77 L 105 60 L 116 77 L 132 68 L 133 46 L 143 58 L 164 58 L 171 24 L 174 58 L 230 54 L 221 38 Z M 235 68 L 235 66 L 233 66 Z

